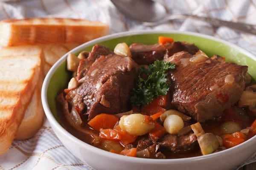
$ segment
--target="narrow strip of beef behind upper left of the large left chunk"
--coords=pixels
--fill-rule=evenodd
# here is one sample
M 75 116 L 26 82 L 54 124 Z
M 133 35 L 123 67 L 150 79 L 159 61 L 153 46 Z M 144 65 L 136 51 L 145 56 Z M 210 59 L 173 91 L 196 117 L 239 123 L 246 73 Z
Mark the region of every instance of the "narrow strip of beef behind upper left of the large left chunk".
M 77 78 L 83 78 L 96 59 L 102 55 L 106 56 L 108 54 L 113 54 L 109 48 L 105 47 L 104 45 L 94 45 L 92 51 L 88 55 L 88 58 L 81 60 L 77 70 Z

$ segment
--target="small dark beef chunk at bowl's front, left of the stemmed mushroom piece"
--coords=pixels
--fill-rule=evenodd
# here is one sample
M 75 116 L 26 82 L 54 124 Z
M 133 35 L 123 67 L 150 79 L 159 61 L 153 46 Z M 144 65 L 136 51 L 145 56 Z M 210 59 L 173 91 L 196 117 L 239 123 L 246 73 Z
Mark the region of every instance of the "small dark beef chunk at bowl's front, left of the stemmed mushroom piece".
M 197 137 L 193 132 L 184 134 L 182 136 L 171 135 L 168 133 L 159 139 L 157 143 L 160 145 L 160 147 L 163 147 L 172 152 L 177 152 L 180 150 L 192 149 L 196 141 Z

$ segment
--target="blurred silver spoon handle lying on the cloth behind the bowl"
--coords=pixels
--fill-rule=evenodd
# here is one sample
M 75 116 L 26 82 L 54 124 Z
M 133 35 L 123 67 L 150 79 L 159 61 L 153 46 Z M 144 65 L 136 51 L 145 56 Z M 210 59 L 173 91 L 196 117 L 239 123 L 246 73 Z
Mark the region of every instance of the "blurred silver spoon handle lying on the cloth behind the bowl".
M 250 33 L 250 34 L 256 34 L 256 26 L 254 25 L 250 25 L 250 24 L 245 24 L 245 23 L 236 23 L 236 22 L 232 22 L 232 21 L 224 21 L 224 20 L 218 20 L 215 18 L 211 18 L 211 17 L 199 17 L 196 15 L 167 15 L 166 17 L 164 17 L 162 20 L 159 20 L 157 22 L 154 23 L 148 23 L 148 22 L 144 22 L 143 24 L 145 26 L 157 26 L 161 23 L 165 23 L 169 20 L 174 20 L 174 19 L 193 19 L 193 20 L 201 20 L 207 23 L 210 23 L 212 25 L 215 26 L 226 26 L 232 29 L 236 29 L 238 31 L 243 31 L 246 33 Z

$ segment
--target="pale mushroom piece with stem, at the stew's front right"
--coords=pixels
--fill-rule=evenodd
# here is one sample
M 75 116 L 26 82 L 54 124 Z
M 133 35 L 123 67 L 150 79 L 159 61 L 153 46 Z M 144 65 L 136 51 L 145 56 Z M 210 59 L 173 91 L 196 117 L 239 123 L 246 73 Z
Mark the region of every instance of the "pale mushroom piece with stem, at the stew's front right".
M 198 137 L 198 143 L 203 155 L 208 155 L 218 149 L 219 142 L 216 136 L 213 133 L 205 133 L 199 122 L 191 125 L 191 128 Z

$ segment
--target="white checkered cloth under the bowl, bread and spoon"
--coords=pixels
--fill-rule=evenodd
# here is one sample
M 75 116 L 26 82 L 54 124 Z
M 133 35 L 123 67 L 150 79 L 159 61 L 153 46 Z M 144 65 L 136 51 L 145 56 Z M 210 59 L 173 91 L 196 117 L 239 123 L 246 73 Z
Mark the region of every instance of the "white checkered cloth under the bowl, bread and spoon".
M 5 2 L 4 2 L 5 1 Z M 196 14 L 256 25 L 256 0 L 158 0 L 171 14 Z M 175 20 L 154 28 L 125 18 L 109 0 L 0 0 L 0 20 L 25 17 L 72 17 L 108 23 L 111 33 L 128 30 L 180 30 L 227 40 L 256 54 L 256 36 L 195 20 Z M 256 161 L 256 155 L 245 164 Z M 93 170 L 58 140 L 49 122 L 31 139 L 15 140 L 0 156 L 0 170 Z

